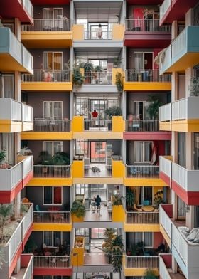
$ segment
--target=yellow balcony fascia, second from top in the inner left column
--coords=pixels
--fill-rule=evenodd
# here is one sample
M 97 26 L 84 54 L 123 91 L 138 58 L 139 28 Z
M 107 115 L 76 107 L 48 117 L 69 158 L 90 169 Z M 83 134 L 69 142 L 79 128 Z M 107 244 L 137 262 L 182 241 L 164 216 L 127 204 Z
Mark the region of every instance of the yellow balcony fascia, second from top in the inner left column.
M 22 82 L 21 90 L 27 91 L 68 91 L 72 90 L 72 82 Z

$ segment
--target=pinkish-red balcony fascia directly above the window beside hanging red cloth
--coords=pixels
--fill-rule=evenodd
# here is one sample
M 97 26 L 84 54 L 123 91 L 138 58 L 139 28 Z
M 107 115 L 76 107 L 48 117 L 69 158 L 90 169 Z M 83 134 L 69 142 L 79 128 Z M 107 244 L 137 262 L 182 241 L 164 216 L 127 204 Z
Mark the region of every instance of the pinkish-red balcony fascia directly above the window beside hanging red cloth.
M 171 140 L 171 132 L 124 132 L 126 140 Z

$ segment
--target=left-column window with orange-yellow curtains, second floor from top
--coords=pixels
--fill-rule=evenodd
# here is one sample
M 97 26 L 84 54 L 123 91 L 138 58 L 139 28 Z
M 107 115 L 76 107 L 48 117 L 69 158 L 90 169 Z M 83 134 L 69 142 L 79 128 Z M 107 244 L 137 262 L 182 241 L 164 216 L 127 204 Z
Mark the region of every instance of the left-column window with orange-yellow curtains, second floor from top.
M 62 52 L 44 52 L 43 65 L 45 70 L 62 70 L 63 53 Z

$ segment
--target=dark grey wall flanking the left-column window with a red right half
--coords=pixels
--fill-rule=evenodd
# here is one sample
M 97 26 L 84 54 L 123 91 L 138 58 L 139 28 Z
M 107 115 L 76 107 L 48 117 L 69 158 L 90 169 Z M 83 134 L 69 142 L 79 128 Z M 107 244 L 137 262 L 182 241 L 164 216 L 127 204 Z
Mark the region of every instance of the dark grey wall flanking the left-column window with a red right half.
M 31 201 L 31 203 L 40 207 L 41 211 L 47 211 L 48 206 L 43 205 L 43 187 L 26 187 L 26 197 Z M 63 211 L 70 210 L 70 187 L 63 187 L 63 206 L 61 206 Z

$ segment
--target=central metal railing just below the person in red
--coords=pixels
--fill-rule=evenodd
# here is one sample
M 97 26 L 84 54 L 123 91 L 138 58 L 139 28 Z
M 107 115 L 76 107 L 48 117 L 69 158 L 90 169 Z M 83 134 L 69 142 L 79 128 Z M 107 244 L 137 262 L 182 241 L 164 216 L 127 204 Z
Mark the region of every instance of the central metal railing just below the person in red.
M 85 131 L 112 131 L 112 120 L 93 119 L 85 120 Z

